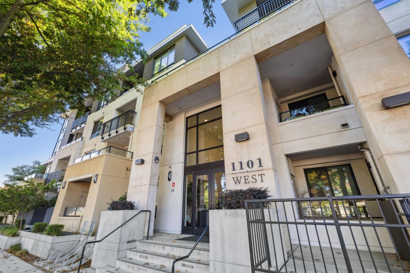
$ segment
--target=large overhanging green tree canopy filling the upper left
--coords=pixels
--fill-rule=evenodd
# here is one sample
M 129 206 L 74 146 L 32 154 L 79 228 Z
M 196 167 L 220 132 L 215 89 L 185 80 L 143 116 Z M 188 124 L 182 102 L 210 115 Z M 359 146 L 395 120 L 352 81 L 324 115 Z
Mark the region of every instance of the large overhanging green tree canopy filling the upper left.
M 191 2 L 192 0 L 187 0 Z M 213 26 L 214 0 L 202 0 Z M 4 0 L 0 4 L 0 130 L 33 136 L 84 99 L 115 99 L 121 82 L 148 86 L 131 68 L 147 54 L 140 32 L 148 14 L 176 11 L 179 0 Z

